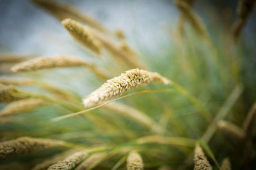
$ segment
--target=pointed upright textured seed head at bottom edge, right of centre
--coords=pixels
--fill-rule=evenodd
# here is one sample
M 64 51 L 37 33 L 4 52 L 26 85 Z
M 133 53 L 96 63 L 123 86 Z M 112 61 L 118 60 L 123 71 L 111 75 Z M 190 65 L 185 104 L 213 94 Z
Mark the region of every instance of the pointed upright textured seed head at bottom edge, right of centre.
M 202 170 L 202 169 L 211 170 L 212 169 L 212 166 L 209 164 L 208 160 L 206 159 L 200 145 L 196 145 L 194 162 L 195 162 L 194 170 Z

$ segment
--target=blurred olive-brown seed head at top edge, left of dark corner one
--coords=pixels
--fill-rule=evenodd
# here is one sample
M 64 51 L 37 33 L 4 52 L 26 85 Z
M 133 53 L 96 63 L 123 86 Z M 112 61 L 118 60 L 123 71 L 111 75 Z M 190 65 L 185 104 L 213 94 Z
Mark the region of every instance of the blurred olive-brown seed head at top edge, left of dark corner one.
M 182 15 L 186 17 L 186 20 L 190 22 L 192 27 L 195 29 L 195 31 L 198 32 L 203 38 L 209 39 L 207 31 L 205 29 L 205 25 L 203 24 L 202 20 L 196 15 L 196 13 L 192 10 L 191 5 L 184 1 L 175 1 L 175 4 L 179 8 L 179 10 L 182 12 Z

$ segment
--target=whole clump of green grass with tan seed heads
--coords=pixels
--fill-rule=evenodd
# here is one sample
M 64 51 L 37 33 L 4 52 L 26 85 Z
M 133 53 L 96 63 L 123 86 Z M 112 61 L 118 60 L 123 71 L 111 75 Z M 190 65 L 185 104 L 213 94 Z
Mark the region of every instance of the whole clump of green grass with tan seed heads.
M 241 45 L 255 1 L 241 0 L 237 22 L 214 39 L 196 1 L 175 1 L 177 27 L 165 30 L 172 48 L 155 56 L 70 4 L 33 3 L 91 61 L 1 54 L 0 169 L 255 168 L 256 95 Z M 86 83 L 99 88 L 84 97 Z

